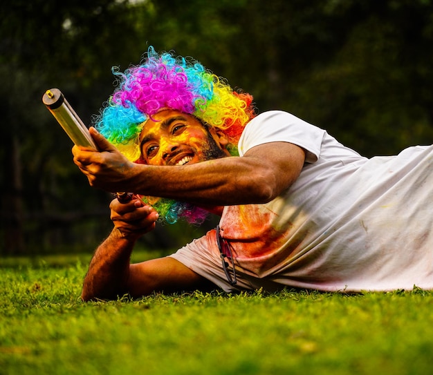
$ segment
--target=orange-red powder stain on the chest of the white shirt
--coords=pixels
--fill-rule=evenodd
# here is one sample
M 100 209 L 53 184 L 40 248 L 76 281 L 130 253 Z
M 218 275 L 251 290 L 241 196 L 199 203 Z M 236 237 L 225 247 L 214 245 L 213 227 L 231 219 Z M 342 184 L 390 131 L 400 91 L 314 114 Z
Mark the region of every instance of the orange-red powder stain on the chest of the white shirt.
M 221 235 L 237 266 L 261 277 L 302 252 L 311 228 L 295 227 L 296 220 L 304 223 L 305 213 L 285 197 L 268 204 L 228 206 L 221 217 Z

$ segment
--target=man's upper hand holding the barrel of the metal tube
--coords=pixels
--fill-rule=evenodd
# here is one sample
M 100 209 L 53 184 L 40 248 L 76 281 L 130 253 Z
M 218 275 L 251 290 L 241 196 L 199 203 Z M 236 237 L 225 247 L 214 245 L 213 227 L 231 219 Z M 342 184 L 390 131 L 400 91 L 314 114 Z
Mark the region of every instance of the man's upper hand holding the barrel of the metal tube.
M 134 167 L 132 162 L 108 142 L 95 128 L 89 129 L 98 151 L 93 148 L 73 146 L 74 163 L 86 175 L 91 186 L 105 191 L 129 191 L 125 181 Z

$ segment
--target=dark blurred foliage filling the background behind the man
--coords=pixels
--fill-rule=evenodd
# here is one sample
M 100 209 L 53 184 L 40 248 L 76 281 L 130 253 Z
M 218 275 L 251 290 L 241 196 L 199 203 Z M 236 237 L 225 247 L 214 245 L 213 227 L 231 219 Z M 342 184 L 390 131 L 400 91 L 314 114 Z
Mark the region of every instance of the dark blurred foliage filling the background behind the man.
M 137 64 L 150 44 L 362 155 L 433 140 L 430 0 L 15 0 L 0 16 L 1 253 L 91 250 L 108 233 L 110 196 L 89 188 L 40 99 L 60 88 L 89 124 L 113 90 L 111 66 Z M 147 242 L 183 244 L 165 231 Z

